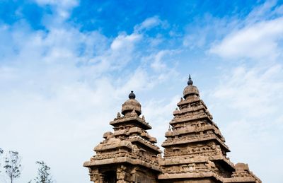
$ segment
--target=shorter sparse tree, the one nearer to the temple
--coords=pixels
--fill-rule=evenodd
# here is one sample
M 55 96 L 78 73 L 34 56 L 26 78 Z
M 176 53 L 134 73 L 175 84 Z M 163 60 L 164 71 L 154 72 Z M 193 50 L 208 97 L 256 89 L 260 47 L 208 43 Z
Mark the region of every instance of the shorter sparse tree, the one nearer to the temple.
M 50 167 L 48 167 L 44 161 L 36 162 L 40 167 L 37 170 L 37 177 L 35 183 L 52 183 L 52 177 L 50 175 Z

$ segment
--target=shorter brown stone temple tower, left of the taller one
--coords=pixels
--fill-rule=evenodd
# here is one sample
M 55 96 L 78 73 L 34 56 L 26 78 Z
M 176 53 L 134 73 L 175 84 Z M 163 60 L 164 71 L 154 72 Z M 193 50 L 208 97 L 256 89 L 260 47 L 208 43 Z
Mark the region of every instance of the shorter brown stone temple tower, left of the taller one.
M 129 100 L 122 105 L 122 115 L 110 122 L 114 133 L 106 132 L 105 138 L 94 150 L 88 167 L 91 181 L 98 183 L 157 182 L 157 175 L 162 172 L 158 165 L 161 154 L 156 138 L 146 130 L 151 129 L 141 114 L 141 105 L 135 100 L 133 92 Z

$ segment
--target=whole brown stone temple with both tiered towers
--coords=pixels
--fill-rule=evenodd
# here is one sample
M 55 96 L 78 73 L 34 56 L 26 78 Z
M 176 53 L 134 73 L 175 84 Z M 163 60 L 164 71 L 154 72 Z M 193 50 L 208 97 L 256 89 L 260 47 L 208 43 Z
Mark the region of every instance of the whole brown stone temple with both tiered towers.
M 260 183 L 248 164 L 231 163 L 230 152 L 212 114 L 200 99 L 199 90 L 189 77 L 183 98 L 177 103 L 166 131 L 162 151 L 151 126 L 141 116 L 141 104 L 133 92 L 122 105 L 122 114 L 110 124 L 113 132 L 94 148 L 96 155 L 83 163 L 92 182 L 97 183 Z M 166 125 L 166 124 L 164 124 Z

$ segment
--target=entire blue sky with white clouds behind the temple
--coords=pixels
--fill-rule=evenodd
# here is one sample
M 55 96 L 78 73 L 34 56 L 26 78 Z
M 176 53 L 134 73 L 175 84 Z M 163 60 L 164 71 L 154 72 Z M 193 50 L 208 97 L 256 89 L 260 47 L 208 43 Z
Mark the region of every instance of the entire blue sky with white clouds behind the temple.
M 37 160 L 57 183 L 89 182 L 83 162 L 130 90 L 161 144 L 189 73 L 233 163 L 283 182 L 282 4 L 0 0 L 0 148 L 21 154 L 16 183 Z

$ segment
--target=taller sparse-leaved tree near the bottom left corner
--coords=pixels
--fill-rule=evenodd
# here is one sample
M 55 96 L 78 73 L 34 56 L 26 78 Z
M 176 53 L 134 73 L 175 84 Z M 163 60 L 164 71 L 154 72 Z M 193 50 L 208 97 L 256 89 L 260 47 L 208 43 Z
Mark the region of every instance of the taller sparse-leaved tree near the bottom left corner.
M 8 152 L 5 158 L 4 169 L 11 183 L 13 183 L 13 179 L 21 176 L 21 157 L 18 155 L 18 152 L 11 150 Z

